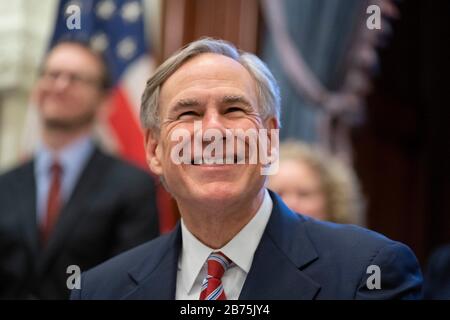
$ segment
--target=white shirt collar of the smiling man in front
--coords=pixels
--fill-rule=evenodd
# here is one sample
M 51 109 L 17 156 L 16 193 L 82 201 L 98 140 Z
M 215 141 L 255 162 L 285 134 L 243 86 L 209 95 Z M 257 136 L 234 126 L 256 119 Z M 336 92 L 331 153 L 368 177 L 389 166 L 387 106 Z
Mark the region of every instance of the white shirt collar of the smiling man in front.
M 198 274 L 213 251 L 221 251 L 230 258 L 235 265 L 246 274 L 250 271 L 253 255 L 261 240 L 261 237 L 269 221 L 273 202 L 267 189 L 264 191 L 264 199 L 253 218 L 234 236 L 225 246 L 214 250 L 200 242 L 186 227 L 181 219 L 181 235 L 183 248 L 178 267 L 181 268 L 181 276 L 184 287 L 190 292 Z

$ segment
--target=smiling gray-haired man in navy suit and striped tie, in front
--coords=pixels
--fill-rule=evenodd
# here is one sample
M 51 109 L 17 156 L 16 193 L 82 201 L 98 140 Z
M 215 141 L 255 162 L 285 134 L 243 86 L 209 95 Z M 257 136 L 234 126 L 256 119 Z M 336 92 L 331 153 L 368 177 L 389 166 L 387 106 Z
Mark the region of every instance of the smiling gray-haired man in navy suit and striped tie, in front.
M 265 164 L 227 144 L 227 132 L 277 130 L 279 113 L 270 71 L 230 43 L 201 39 L 165 61 L 147 82 L 141 120 L 149 166 L 176 199 L 181 222 L 83 274 L 72 298 L 419 298 L 422 276 L 408 247 L 297 215 L 265 188 Z M 180 130 L 194 141 L 196 124 L 222 141 L 223 155 L 211 154 L 225 163 L 174 161 Z M 272 134 L 267 139 L 276 145 Z M 203 134 L 202 148 L 211 140 Z

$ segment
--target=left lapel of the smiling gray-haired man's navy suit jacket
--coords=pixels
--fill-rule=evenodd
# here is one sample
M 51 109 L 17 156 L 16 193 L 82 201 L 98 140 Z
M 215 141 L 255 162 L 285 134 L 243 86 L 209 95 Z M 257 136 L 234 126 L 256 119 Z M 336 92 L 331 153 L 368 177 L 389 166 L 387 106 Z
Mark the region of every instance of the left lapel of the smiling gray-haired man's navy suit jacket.
M 164 238 L 155 253 L 129 271 L 129 276 L 136 287 L 127 292 L 122 299 L 175 299 L 180 250 L 181 227 L 178 223 L 175 229 Z

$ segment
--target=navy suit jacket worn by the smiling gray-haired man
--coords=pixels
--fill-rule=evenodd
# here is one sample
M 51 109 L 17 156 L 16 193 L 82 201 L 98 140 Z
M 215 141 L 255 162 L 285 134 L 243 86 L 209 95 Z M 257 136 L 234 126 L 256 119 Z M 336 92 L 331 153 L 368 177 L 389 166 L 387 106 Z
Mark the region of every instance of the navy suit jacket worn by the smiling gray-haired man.
M 415 299 L 422 275 L 411 250 L 375 232 L 292 212 L 270 192 L 273 210 L 240 299 Z M 174 299 L 180 225 L 167 235 L 83 273 L 72 299 Z M 370 290 L 367 267 L 381 271 Z

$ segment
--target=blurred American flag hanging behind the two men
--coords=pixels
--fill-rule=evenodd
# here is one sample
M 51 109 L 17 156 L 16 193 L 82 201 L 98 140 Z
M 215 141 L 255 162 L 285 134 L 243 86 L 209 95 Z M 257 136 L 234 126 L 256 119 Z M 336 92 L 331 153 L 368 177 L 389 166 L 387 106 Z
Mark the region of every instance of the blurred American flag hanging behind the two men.
M 77 25 L 75 18 L 79 18 Z M 148 170 L 139 125 L 139 107 L 154 60 L 141 0 L 61 0 L 51 45 L 60 39 L 88 41 L 106 57 L 113 80 L 110 115 L 102 127 L 104 144 Z M 172 203 L 158 189 L 161 232 L 176 222 Z

